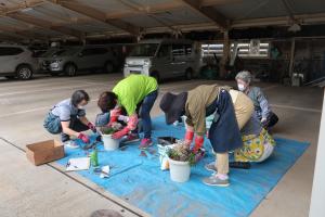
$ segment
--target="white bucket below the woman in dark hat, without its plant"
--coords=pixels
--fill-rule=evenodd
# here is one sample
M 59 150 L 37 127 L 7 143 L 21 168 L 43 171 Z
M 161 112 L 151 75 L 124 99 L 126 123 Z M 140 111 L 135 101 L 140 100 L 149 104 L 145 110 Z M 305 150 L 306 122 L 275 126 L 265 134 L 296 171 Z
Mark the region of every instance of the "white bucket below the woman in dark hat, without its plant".
M 170 179 L 176 182 L 188 181 L 191 175 L 190 162 L 169 161 Z

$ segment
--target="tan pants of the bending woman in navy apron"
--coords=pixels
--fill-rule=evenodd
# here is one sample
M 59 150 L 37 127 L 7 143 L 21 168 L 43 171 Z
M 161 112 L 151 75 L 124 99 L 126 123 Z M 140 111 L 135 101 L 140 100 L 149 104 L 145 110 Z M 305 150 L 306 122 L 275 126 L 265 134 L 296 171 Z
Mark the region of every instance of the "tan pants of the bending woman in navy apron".
M 250 119 L 253 113 L 253 104 L 251 100 L 237 90 L 230 90 L 232 101 L 234 103 L 234 110 L 239 129 Z M 218 174 L 226 175 L 229 173 L 229 154 L 217 153 L 216 168 Z

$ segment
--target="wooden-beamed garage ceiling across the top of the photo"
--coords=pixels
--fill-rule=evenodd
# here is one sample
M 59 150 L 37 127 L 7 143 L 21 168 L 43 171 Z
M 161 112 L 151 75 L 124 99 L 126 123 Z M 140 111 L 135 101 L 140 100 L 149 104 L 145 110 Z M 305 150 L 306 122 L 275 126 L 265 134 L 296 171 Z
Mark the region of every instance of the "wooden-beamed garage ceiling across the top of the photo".
M 0 0 L 0 38 L 86 39 L 325 23 L 324 0 Z

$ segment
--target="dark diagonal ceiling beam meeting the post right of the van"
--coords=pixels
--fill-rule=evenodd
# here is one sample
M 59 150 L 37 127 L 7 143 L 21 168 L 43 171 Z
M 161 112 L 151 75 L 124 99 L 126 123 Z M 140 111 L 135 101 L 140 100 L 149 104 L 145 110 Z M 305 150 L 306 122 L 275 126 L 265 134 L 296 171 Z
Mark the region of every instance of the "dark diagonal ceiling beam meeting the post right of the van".
M 222 30 L 229 28 L 230 21 L 224 15 L 222 15 L 221 13 L 216 11 L 213 8 L 203 7 L 200 4 L 200 1 L 197 1 L 197 0 L 182 0 L 182 2 L 186 5 L 188 5 L 191 9 L 193 9 L 197 13 L 199 13 L 199 14 L 208 17 L 212 22 L 214 22 L 216 25 L 219 26 Z

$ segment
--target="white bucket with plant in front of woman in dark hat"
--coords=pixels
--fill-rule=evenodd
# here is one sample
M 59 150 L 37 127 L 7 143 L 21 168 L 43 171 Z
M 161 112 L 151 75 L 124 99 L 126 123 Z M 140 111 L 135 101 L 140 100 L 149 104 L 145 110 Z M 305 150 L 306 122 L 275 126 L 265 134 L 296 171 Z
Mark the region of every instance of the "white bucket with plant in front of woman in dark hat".
M 185 182 L 190 179 L 191 166 L 195 165 L 195 154 L 190 146 L 179 141 L 167 152 L 170 169 L 170 179 L 177 182 Z

